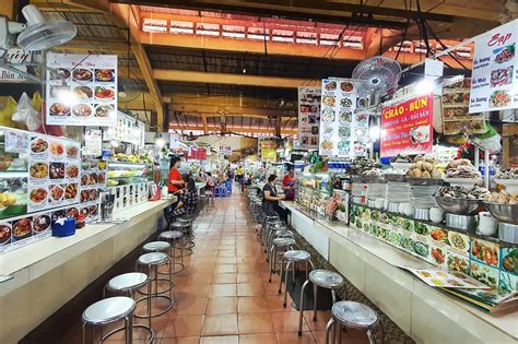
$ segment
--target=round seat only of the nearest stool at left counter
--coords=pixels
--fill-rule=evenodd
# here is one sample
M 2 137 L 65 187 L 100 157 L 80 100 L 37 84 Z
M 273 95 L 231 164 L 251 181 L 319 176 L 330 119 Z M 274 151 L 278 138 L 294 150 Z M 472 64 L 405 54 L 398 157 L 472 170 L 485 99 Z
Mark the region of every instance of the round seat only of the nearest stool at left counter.
M 131 315 L 134 307 L 136 303 L 131 297 L 116 296 L 105 298 L 84 310 L 83 321 L 90 324 L 110 323 Z

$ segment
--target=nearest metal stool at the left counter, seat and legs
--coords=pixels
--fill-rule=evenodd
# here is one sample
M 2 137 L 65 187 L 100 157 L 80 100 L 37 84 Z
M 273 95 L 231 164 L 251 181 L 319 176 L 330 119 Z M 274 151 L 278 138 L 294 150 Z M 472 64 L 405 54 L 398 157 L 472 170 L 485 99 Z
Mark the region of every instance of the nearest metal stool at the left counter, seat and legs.
M 122 328 L 126 332 L 126 344 L 133 342 L 133 311 L 136 301 L 131 297 L 116 296 L 102 299 L 89 306 L 82 316 L 83 321 L 83 344 L 86 343 L 86 325 L 92 327 L 92 341 L 94 341 L 93 331 L 96 325 L 103 327 L 120 320 L 125 321 Z M 119 329 L 120 331 L 121 329 Z M 117 331 L 111 331 L 101 336 L 101 343 Z

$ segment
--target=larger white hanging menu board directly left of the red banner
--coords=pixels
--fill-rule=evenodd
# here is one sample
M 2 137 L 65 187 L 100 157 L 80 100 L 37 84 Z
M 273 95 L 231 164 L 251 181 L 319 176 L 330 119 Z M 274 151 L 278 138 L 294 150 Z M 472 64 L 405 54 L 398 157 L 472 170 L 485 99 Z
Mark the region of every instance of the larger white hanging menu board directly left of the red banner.
M 349 79 L 323 79 L 320 110 L 319 154 L 329 156 L 366 156 L 368 115 L 360 112 L 369 106 L 368 95 L 358 95 Z

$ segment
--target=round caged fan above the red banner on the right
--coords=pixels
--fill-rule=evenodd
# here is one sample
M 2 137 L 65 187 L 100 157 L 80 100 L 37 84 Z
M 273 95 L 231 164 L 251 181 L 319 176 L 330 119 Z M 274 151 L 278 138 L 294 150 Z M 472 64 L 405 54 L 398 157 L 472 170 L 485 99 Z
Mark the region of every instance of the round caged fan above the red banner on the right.
M 384 56 L 375 56 L 356 66 L 352 79 L 358 81 L 358 93 L 385 95 L 398 87 L 401 66 Z

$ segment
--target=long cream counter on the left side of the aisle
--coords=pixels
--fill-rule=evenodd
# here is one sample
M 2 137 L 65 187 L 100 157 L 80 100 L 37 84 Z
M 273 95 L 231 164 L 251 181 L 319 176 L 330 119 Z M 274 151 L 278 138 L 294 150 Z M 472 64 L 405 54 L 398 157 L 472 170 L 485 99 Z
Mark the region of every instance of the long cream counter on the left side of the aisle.
M 145 202 L 0 256 L 0 343 L 15 343 L 157 230 L 173 199 Z M 45 297 L 42 297 L 45 296 Z M 34 308 L 34 303 L 39 306 Z

